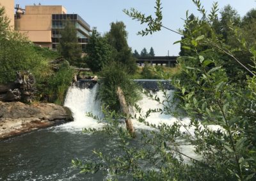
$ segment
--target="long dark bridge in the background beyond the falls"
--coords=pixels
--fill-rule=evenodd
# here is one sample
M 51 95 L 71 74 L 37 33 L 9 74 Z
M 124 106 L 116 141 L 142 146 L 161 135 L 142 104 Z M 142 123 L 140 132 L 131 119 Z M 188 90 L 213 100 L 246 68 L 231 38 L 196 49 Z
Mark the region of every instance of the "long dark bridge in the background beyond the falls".
M 143 64 L 145 62 L 148 62 L 148 64 L 150 64 L 151 66 L 153 64 L 155 65 L 161 65 L 163 66 L 165 64 L 165 66 L 175 66 L 175 64 L 177 64 L 177 56 L 156 56 L 156 57 L 136 57 L 138 60 L 136 61 L 136 63 Z

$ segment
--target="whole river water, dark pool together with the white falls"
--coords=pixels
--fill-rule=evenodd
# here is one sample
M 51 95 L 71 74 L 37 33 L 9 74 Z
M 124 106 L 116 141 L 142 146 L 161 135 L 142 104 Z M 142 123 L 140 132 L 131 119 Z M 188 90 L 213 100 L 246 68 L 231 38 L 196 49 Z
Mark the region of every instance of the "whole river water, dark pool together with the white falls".
M 106 180 L 109 177 L 107 173 L 84 175 L 72 168 L 71 164 L 71 160 L 75 158 L 92 161 L 95 159 L 92 154 L 94 149 L 115 154 L 115 139 L 109 140 L 104 133 L 82 133 L 84 127 L 98 129 L 104 126 L 86 116 L 86 113 L 92 112 L 93 115 L 102 117 L 100 102 L 95 101 L 98 88 L 98 85 L 92 89 L 75 86 L 69 88 L 65 106 L 72 110 L 74 122 L 0 141 L 0 180 Z M 168 94 L 172 94 L 172 91 L 168 91 Z M 163 99 L 161 92 L 156 92 L 156 95 Z M 161 108 L 147 96 L 143 96 L 138 105 L 143 112 L 148 108 Z M 170 115 L 159 113 L 153 113 L 148 119 L 148 122 L 154 124 L 171 124 L 173 121 L 175 118 Z M 188 123 L 189 119 L 184 119 L 184 122 Z M 150 129 L 135 120 L 133 123 L 135 129 Z M 196 157 L 193 155 L 193 148 L 181 149 Z

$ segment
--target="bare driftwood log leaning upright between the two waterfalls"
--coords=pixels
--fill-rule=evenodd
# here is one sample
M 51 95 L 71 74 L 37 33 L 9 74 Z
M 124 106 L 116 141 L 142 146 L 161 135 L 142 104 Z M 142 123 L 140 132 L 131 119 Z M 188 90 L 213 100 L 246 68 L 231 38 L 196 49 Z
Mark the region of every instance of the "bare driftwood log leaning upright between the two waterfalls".
M 122 89 L 120 87 L 117 87 L 116 94 L 119 99 L 122 113 L 124 113 L 124 115 L 125 115 L 126 128 L 132 136 L 135 136 L 134 128 L 132 126 L 132 120 L 130 118 L 129 108 L 125 101 L 124 92 L 122 91 Z

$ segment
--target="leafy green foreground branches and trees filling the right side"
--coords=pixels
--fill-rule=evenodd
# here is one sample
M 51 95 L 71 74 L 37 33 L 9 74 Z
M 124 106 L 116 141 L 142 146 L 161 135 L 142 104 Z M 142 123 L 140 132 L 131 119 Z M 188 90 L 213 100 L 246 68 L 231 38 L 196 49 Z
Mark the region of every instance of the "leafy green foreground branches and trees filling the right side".
M 118 125 L 120 115 L 104 112 L 105 119 L 109 121 L 104 131 L 115 138 L 117 136 L 122 151 L 115 156 L 94 151 L 100 159 L 96 163 L 72 161 L 74 166 L 81 168 L 81 172 L 108 171 L 113 178 L 129 175 L 134 180 L 256 179 L 255 45 L 246 46 L 246 41 L 241 40 L 237 29 L 229 28 L 227 36 L 232 37 L 228 39 L 237 40 L 239 45 L 228 44 L 213 26 L 218 19 L 218 4 L 214 3 L 207 14 L 200 0 L 193 0 L 193 3 L 202 13 L 202 18 L 196 17 L 196 24 L 189 26 L 193 21 L 189 20 L 187 14 L 185 29 L 180 30 L 184 38 L 178 42 L 189 52 L 178 60 L 182 72 L 173 80 L 177 88 L 173 99 L 175 104 L 165 92 L 165 101 L 153 98 L 163 105 L 163 110 L 148 110 L 145 115 L 141 115 L 141 109 L 135 106 L 140 115 L 138 120 L 154 128 L 149 133 L 141 131 L 141 137 L 137 140 L 132 140 L 129 133 Z M 161 2 L 156 1 L 156 17 L 161 14 L 159 4 Z M 143 35 L 159 31 L 161 22 L 145 18 L 144 14 L 134 9 L 125 13 L 148 24 Z M 237 46 L 241 49 L 237 50 Z M 250 55 L 244 59 L 250 61 L 251 66 L 237 58 L 239 51 Z M 234 74 L 228 70 L 233 67 L 223 63 L 227 61 L 241 68 L 239 80 L 244 78 L 243 82 L 233 81 Z M 164 77 L 164 73 L 162 75 Z M 147 122 L 150 112 L 166 113 L 176 117 L 177 121 L 156 126 Z M 189 117 L 189 124 L 184 122 L 184 116 Z M 134 146 L 134 142 L 141 146 Z M 182 145 L 195 148 L 198 157 L 182 152 Z M 184 157 L 189 159 L 189 163 L 184 161 Z

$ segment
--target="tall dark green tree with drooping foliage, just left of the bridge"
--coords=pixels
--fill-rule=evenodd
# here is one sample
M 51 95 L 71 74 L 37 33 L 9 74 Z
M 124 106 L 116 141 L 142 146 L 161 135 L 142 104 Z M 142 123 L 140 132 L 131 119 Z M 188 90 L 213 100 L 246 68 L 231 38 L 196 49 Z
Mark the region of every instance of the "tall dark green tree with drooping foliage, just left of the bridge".
M 115 61 L 122 62 L 132 74 L 136 71 L 136 59 L 132 56 L 132 49 L 128 46 L 127 36 L 124 22 L 112 22 L 110 30 L 106 34 L 109 45 L 114 47 L 117 52 Z

